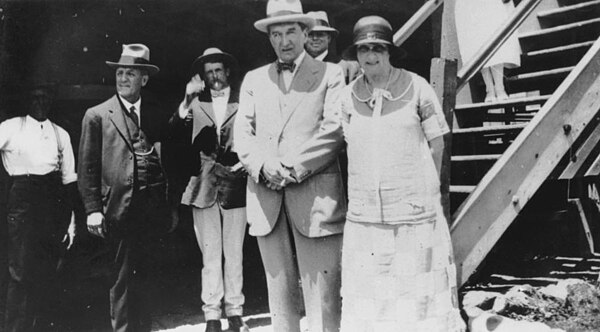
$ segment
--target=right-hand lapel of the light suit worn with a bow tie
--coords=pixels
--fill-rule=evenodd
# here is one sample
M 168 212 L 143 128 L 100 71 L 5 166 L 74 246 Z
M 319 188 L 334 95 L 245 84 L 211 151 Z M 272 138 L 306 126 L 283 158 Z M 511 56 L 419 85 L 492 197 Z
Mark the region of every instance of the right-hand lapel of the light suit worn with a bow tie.
M 310 91 L 312 86 L 317 81 L 317 73 L 319 72 L 318 66 L 315 65 L 315 60 L 308 54 L 304 56 L 298 72 L 292 79 L 289 96 L 287 96 L 289 107 L 287 113 L 282 113 L 282 126 L 281 131 L 285 128 L 289 122 L 292 114 L 298 109 L 298 106 L 302 100 L 306 97 L 306 93 Z

